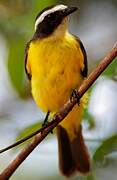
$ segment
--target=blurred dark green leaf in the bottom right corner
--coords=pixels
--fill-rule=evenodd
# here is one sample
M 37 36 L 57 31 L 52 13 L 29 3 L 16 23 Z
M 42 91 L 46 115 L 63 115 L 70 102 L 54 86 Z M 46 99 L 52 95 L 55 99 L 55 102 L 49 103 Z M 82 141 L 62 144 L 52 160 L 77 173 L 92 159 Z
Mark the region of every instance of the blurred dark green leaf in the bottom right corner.
M 104 140 L 95 151 L 93 155 L 93 161 L 95 165 L 97 166 L 103 165 L 106 155 L 116 151 L 117 151 L 117 135 L 114 135 Z

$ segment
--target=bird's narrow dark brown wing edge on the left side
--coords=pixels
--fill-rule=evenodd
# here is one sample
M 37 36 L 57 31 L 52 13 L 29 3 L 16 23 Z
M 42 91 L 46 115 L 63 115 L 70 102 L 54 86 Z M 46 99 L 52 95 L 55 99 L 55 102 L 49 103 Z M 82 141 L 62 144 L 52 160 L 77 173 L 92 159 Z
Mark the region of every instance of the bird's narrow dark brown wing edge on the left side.
M 29 70 L 27 69 L 27 58 L 28 58 L 28 50 L 29 50 L 30 43 L 31 43 L 31 41 L 29 41 L 26 44 L 26 48 L 25 48 L 25 72 L 26 72 L 29 80 L 31 80 L 31 72 L 29 72 Z

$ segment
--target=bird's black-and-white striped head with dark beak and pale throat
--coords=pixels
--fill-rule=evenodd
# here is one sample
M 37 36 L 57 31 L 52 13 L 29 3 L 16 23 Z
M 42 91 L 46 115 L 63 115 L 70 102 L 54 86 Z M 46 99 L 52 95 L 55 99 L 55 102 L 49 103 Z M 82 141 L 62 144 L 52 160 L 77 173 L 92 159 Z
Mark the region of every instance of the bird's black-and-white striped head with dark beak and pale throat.
M 65 5 L 50 6 L 42 10 L 35 20 L 34 39 L 44 38 L 56 32 L 62 34 L 67 29 L 69 15 L 77 10 L 77 7 Z

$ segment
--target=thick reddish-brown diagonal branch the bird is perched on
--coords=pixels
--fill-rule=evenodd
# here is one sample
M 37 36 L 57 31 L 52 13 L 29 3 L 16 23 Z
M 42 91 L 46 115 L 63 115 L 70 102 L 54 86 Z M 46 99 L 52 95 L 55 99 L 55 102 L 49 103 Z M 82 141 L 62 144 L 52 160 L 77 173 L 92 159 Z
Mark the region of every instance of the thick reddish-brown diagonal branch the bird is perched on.
M 86 80 L 82 83 L 77 93 L 80 98 L 89 89 L 89 87 L 95 82 L 95 80 L 100 76 L 100 74 L 106 69 L 106 67 L 114 60 L 117 56 L 117 42 L 112 48 L 112 50 L 107 54 L 107 56 L 99 63 L 95 70 L 91 72 Z M 28 157 L 28 155 L 41 143 L 41 141 L 60 123 L 67 114 L 72 110 L 74 105 L 77 103 L 76 98 L 70 99 L 60 110 L 57 112 L 52 121 L 39 132 L 34 140 L 27 145 L 17 157 L 6 167 L 5 170 L 0 174 L 0 180 L 7 180 L 15 172 L 15 170 L 20 166 L 20 164 Z

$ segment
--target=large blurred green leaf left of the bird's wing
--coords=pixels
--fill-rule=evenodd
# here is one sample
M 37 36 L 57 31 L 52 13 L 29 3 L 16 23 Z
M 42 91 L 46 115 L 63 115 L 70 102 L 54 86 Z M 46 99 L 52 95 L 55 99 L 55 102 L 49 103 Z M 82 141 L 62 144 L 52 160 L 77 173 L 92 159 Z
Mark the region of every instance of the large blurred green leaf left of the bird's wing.
M 10 42 L 8 72 L 14 88 L 20 95 L 24 94 L 24 40 L 14 38 Z

